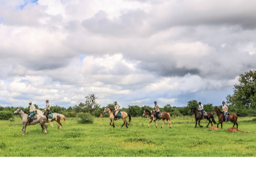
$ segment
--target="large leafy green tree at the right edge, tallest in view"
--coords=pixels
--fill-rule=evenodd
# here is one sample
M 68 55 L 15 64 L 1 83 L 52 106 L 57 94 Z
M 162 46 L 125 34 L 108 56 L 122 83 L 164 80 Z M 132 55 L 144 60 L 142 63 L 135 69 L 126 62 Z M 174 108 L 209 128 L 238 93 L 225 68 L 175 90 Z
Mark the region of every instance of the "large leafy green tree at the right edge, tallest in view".
M 227 104 L 237 107 L 255 107 L 256 105 L 256 70 L 239 75 L 234 94 L 227 95 Z

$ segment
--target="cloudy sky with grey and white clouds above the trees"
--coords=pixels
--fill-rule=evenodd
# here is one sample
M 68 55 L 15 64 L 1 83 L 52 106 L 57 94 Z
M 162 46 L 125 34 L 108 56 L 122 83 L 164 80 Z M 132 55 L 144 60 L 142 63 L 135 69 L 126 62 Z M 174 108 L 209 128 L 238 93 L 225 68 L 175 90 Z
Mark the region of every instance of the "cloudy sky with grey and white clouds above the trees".
M 0 105 L 221 105 L 255 34 L 253 0 L 0 0 Z

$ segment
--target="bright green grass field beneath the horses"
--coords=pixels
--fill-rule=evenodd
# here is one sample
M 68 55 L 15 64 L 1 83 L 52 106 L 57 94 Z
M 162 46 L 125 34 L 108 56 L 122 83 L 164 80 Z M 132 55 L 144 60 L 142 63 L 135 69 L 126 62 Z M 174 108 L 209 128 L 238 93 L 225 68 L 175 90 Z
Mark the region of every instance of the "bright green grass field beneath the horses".
M 192 121 L 193 119 L 193 121 Z M 215 117 L 215 119 L 217 119 Z M 166 124 L 161 129 L 149 118 L 132 118 L 129 129 L 120 129 L 122 121 L 109 126 L 109 119 L 95 118 L 91 125 L 79 125 L 73 118 L 62 122 L 62 130 L 54 127 L 41 133 L 40 126 L 29 126 L 29 134 L 22 136 L 21 119 L 0 121 L 1 157 L 255 157 L 256 120 L 239 118 L 239 130 L 249 132 L 226 133 L 232 123 L 223 124 L 223 130 L 195 129 L 194 117 L 172 118 L 172 129 Z

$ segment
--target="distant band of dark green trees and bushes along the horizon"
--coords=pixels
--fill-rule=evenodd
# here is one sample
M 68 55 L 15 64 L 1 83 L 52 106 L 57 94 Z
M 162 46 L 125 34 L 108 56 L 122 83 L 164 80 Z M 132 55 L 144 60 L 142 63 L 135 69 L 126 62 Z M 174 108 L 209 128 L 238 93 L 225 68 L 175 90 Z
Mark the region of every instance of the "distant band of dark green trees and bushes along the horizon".
M 110 107 L 110 109 L 114 110 L 115 105 L 109 104 L 107 105 Z M 38 106 L 35 105 L 35 107 L 38 109 Z M 193 100 L 187 102 L 186 107 L 173 107 L 171 105 L 165 105 L 164 107 L 160 108 L 161 111 L 165 111 L 167 113 L 170 113 L 171 117 L 181 117 L 181 116 L 190 116 L 191 115 L 191 107 L 195 107 L 198 109 L 198 102 Z M 213 113 L 214 107 L 213 104 L 205 104 L 205 111 L 209 111 Z M 222 106 L 218 106 L 219 109 L 222 110 Z M 0 107 L 0 120 L 5 120 L 11 118 L 14 111 L 16 111 L 18 107 Z M 29 107 L 21 109 L 26 113 L 29 111 Z M 129 106 L 128 108 L 122 108 L 121 111 L 125 111 L 129 114 L 131 114 L 132 117 L 142 117 L 144 110 L 154 110 L 151 106 Z M 40 109 L 43 110 L 43 109 Z M 103 111 L 105 110 L 105 107 L 97 107 L 92 111 L 92 115 L 95 117 L 99 117 L 101 114 L 103 114 Z M 6 113 L 4 111 L 7 111 L 9 113 Z M 88 109 L 84 103 L 80 103 L 77 106 L 74 107 L 61 107 L 61 106 L 51 106 L 51 112 L 52 113 L 59 113 L 65 115 L 65 117 L 77 117 L 77 114 L 79 113 L 90 113 L 90 109 Z M 235 107 L 235 106 L 229 106 L 229 113 L 235 113 L 240 114 L 244 116 L 252 116 L 256 117 L 256 109 L 252 107 Z M 109 117 L 108 114 L 103 114 L 104 117 Z

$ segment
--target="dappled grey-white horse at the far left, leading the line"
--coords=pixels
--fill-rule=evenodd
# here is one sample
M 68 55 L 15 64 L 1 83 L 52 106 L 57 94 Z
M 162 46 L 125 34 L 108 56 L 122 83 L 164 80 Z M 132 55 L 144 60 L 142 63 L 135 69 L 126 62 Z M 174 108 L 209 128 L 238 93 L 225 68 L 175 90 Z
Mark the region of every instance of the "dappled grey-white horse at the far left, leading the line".
M 22 119 L 22 123 L 23 123 L 22 131 L 24 130 L 23 135 L 25 135 L 25 133 L 28 134 L 29 132 L 26 131 L 26 128 L 27 128 L 27 123 L 28 123 L 27 121 L 28 121 L 29 115 L 24 113 L 21 108 L 17 109 L 13 114 L 21 115 L 21 119 Z M 30 123 L 30 125 L 37 125 L 38 123 L 40 123 L 40 125 L 42 127 L 42 133 L 43 133 L 43 130 L 45 129 L 45 134 L 47 134 L 47 126 L 45 125 L 46 120 L 47 119 L 46 119 L 45 115 L 37 115 L 37 119 L 34 119 Z

